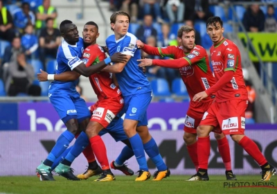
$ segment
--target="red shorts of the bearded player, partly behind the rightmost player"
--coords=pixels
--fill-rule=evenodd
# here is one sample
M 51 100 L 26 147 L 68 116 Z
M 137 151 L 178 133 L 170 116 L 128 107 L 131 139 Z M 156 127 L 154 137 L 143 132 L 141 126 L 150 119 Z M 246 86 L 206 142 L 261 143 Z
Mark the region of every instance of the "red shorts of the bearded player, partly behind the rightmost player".
M 184 131 L 188 133 L 196 134 L 196 128 L 198 127 L 204 113 L 207 111 L 208 107 L 213 104 L 213 100 L 206 103 L 196 103 L 190 101 L 190 107 L 188 107 L 188 112 L 186 112 L 186 120 Z

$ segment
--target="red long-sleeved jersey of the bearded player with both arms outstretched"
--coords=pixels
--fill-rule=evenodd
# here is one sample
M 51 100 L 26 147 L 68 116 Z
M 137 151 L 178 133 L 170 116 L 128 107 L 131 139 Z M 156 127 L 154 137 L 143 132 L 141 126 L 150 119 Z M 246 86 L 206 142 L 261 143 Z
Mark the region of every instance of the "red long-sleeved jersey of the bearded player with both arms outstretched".
M 190 53 L 184 53 L 182 46 L 167 46 L 156 48 L 145 45 L 143 51 L 150 55 L 161 55 L 162 57 L 170 57 L 177 60 L 153 60 L 153 64 L 161 67 L 179 68 L 181 78 L 186 85 L 190 100 L 195 94 L 204 91 L 215 85 L 215 78 L 208 62 L 208 55 L 202 46 L 196 45 Z M 213 95 L 211 95 L 213 96 Z M 213 100 L 209 96 L 204 98 L 202 102 Z

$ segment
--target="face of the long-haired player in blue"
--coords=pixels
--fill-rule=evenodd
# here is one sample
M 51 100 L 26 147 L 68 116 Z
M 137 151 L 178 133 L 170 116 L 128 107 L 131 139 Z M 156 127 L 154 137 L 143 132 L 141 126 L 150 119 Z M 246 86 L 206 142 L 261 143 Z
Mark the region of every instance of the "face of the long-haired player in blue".
M 118 15 L 116 17 L 116 22 L 111 23 L 111 28 L 114 29 L 114 33 L 123 37 L 126 35 L 129 28 L 129 19 L 125 15 Z

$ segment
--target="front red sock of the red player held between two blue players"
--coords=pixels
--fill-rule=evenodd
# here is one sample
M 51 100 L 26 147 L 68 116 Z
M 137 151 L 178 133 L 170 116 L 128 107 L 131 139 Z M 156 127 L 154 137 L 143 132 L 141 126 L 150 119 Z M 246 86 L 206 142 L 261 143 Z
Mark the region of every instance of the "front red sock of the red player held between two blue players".
M 89 141 L 91 142 L 91 148 L 94 154 L 96 155 L 96 158 L 100 163 L 102 170 L 109 169 L 109 161 L 107 158 L 106 146 L 102 141 L 102 138 L 99 135 L 97 135 L 91 137 Z

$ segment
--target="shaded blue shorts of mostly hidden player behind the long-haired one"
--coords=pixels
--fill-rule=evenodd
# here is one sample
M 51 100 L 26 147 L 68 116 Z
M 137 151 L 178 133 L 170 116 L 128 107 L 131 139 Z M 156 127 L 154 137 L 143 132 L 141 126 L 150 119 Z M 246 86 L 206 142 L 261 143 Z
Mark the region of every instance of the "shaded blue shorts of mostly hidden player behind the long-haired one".
M 122 118 L 114 118 L 114 120 L 111 121 L 111 123 L 109 123 L 109 125 L 105 129 L 100 131 L 99 135 L 102 136 L 106 133 L 109 133 L 116 142 L 128 139 L 123 130 Z

